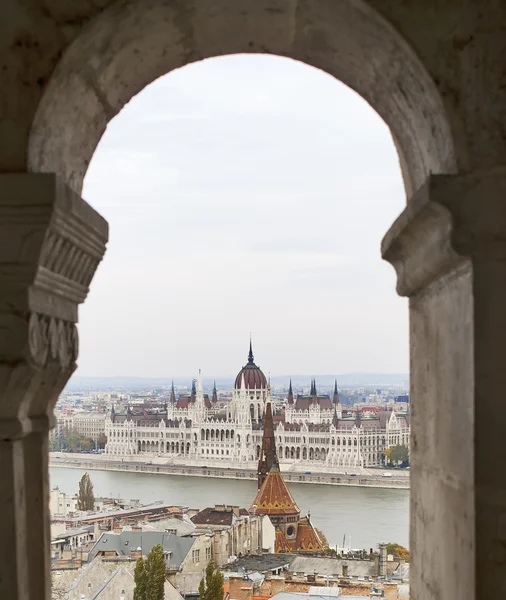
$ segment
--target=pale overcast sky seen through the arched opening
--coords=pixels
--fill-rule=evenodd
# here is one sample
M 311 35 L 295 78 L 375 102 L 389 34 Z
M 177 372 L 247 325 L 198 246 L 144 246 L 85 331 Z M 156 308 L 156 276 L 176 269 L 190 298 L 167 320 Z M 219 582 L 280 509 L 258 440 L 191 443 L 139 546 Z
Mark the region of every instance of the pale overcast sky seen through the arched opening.
M 111 121 L 85 199 L 110 224 L 80 310 L 79 375 L 408 370 L 380 242 L 404 205 L 388 128 L 329 75 L 195 63 Z

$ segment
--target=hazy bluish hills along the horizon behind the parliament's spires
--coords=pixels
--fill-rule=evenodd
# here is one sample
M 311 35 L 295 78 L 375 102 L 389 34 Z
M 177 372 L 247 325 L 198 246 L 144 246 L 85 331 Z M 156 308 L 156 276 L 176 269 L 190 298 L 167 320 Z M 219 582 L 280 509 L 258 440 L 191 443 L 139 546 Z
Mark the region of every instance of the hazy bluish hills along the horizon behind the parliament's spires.
M 309 386 L 313 375 L 292 375 L 294 386 Z M 341 375 L 316 375 L 317 386 L 329 387 L 337 379 L 338 387 L 361 387 L 361 386 L 395 386 L 409 380 L 407 373 L 343 373 Z M 289 375 L 271 377 L 273 386 L 288 385 Z M 206 377 L 203 381 L 204 387 L 209 389 L 213 386 L 214 378 Z M 148 390 L 153 388 L 170 387 L 172 379 L 165 377 L 83 377 L 75 375 L 67 384 L 66 389 L 70 391 L 98 391 L 98 390 Z M 216 377 L 218 388 L 231 388 L 234 377 Z M 190 387 L 191 377 L 174 377 L 176 387 Z

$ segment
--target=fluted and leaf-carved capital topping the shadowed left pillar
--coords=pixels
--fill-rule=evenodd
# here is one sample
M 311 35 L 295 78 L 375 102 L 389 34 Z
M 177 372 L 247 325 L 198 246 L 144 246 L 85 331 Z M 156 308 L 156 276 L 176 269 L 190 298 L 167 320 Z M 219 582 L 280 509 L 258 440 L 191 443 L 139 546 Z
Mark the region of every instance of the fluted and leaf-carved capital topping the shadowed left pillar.
M 47 429 L 106 221 L 52 174 L 0 175 L 0 438 Z

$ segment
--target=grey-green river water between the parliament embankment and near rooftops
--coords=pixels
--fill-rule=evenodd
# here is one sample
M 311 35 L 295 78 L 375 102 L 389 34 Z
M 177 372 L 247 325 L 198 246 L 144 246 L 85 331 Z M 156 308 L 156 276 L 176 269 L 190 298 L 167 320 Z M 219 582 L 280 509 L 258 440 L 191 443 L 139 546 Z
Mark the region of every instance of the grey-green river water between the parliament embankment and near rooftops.
M 77 492 L 84 471 L 51 467 L 51 487 Z M 214 504 L 249 507 L 255 497 L 253 481 L 90 471 L 97 496 L 114 496 L 142 503 L 163 502 L 204 508 Z M 327 536 L 331 545 L 374 548 L 379 542 L 408 546 L 409 490 L 340 487 L 291 483 L 290 492 L 303 513 Z M 350 540 L 351 538 L 351 540 Z

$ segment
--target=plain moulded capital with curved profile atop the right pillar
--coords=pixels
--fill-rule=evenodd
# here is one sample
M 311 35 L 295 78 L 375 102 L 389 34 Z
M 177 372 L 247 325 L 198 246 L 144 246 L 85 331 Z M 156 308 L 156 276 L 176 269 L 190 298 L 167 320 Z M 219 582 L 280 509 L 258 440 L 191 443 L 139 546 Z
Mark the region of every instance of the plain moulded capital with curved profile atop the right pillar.
M 477 260 L 506 260 L 506 169 L 432 175 L 381 244 L 397 292 L 413 296 Z

